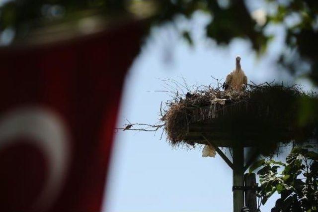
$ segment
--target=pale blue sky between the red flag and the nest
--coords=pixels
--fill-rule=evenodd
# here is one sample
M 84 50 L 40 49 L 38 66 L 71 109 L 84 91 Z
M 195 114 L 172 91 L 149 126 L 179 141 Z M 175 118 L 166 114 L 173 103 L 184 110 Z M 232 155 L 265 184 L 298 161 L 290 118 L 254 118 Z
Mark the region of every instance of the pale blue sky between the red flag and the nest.
M 236 39 L 228 47 L 220 47 L 206 39 L 203 28 L 208 19 L 199 13 L 188 22 L 178 19 L 179 25 L 194 33 L 193 48 L 173 32 L 171 25 L 153 30 L 127 75 L 118 127 L 127 123 L 126 118 L 134 123 L 158 121 L 160 103 L 169 99 L 166 93 L 155 92 L 165 90 L 160 79 L 182 82 L 183 77 L 188 85 L 215 83 L 211 76 L 224 79 L 235 68 L 236 55 L 241 56 L 242 69 L 255 83 L 274 79 L 293 82 L 288 73 L 277 71 L 275 66 L 283 48 L 281 26 L 269 27 L 268 32 L 277 37 L 268 52 L 257 58 L 245 40 Z M 306 89 L 310 89 L 308 85 Z M 232 170 L 221 157 L 203 158 L 201 148 L 174 149 L 165 134 L 160 140 L 160 134 L 116 133 L 104 211 L 233 211 Z M 272 197 L 261 211 L 270 211 L 276 198 Z

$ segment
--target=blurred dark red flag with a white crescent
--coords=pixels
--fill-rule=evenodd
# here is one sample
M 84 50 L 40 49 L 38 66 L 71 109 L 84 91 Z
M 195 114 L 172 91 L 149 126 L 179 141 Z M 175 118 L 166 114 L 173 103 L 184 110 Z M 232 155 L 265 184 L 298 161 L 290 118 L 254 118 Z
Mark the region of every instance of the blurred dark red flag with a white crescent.
M 0 49 L 0 212 L 98 212 L 140 23 Z

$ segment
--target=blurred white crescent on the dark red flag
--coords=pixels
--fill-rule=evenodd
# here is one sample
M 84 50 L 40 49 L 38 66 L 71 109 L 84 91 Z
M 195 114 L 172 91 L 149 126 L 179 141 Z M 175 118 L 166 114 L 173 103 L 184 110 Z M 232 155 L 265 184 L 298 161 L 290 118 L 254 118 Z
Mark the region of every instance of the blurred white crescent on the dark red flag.
M 35 145 L 46 156 L 48 177 L 32 208 L 48 210 L 63 187 L 70 161 L 65 121 L 45 107 L 10 110 L 0 116 L 0 149 L 14 144 L 17 138 L 27 138 L 29 145 Z

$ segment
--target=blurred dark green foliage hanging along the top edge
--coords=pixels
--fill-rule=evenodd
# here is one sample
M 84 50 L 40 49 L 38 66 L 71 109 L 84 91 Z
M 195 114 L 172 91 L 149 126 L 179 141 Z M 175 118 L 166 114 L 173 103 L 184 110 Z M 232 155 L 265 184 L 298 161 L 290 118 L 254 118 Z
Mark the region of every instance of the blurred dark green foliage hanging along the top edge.
M 89 9 L 116 15 L 127 12 L 131 4 L 145 3 L 145 9 L 155 11 L 151 25 L 173 22 L 176 15 L 191 18 L 196 11 L 203 11 L 212 17 L 206 26 L 207 37 L 218 44 L 228 44 L 238 37 L 248 39 L 261 53 L 271 39 L 266 27 L 279 23 L 286 30 L 280 64 L 292 73 L 309 71 L 307 76 L 318 85 L 318 1 L 259 1 L 266 1 L 271 8 L 262 21 L 253 17 L 245 0 L 8 0 L 0 7 L 0 30 L 14 28 L 21 36 L 29 30 L 30 22 L 37 25 L 43 20 L 47 24 L 55 19 L 76 18 L 79 11 Z M 192 44 L 190 32 L 180 35 Z M 311 65 L 310 70 L 305 62 Z

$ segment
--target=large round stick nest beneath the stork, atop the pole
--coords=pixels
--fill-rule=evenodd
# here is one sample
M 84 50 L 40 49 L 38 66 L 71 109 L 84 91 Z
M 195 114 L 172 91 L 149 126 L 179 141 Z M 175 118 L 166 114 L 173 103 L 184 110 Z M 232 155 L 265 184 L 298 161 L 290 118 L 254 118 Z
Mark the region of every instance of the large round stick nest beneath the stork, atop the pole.
M 218 139 L 253 139 L 260 146 L 276 148 L 277 143 L 302 144 L 316 138 L 317 120 L 312 115 L 316 103 L 314 93 L 297 85 L 264 83 L 249 85 L 243 92 L 204 87 L 167 102 L 161 120 L 172 145 L 195 144 L 187 134 L 211 126 L 209 133 Z

